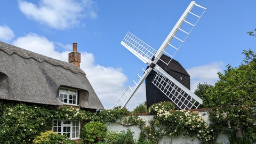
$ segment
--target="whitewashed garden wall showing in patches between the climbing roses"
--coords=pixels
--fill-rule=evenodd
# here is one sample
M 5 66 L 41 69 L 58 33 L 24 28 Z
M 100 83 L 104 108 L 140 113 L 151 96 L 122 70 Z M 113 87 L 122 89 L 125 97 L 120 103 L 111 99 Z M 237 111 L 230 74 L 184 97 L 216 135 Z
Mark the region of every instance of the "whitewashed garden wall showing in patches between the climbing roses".
M 198 111 L 198 114 L 200 114 L 204 120 L 209 123 L 209 120 L 208 120 L 208 114 L 207 114 L 208 110 L 203 110 L 203 111 Z M 196 111 L 197 113 L 197 111 Z M 146 121 L 146 125 L 149 125 L 148 122 L 153 118 L 154 115 L 149 115 L 149 114 L 142 114 L 142 115 L 139 115 L 140 118 L 142 119 L 145 119 Z M 134 132 L 134 139 L 137 139 L 139 138 L 139 134 L 140 134 L 140 129 L 138 126 L 124 126 L 124 125 L 121 125 L 121 124 L 117 124 L 117 123 L 108 123 L 107 124 L 107 129 L 109 131 L 126 131 L 127 129 L 131 129 L 132 132 Z M 216 140 L 216 142 L 222 142 L 222 144 L 224 143 L 229 143 L 227 137 L 225 134 L 219 134 L 218 135 L 218 138 Z M 200 143 L 200 141 L 194 137 L 193 140 L 191 140 L 189 137 L 187 138 L 182 138 L 182 135 L 179 135 L 179 137 L 175 137 L 175 138 L 170 138 L 170 137 L 164 137 L 162 139 L 159 140 L 158 143 L 165 143 L 165 144 L 169 144 L 169 143 L 172 143 L 172 144 L 175 144 L 175 143 Z

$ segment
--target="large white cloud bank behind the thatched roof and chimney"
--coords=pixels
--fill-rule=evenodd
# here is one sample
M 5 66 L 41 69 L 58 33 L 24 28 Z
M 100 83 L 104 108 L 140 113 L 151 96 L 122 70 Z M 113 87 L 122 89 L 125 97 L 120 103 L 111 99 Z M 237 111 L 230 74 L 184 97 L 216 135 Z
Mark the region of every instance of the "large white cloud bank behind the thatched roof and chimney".
M 71 51 L 58 52 L 55 49 L 56 45 L 62 47 L 70 47 L 70 45 L 63 45 L 60 43 L 53 43 L 44 36 L 34 33 L 27 34 L 26 36 L 17 38 L 13 45 L 19 46 L 22 49 L 33 51 L 39 54 L 46 55 L 54 59 L 59 59 L 68 62 L 68 53 Z M 67 48 L 70 49 L 70 48 Z M 79 45 L 78 45 L 79 50 Z M 93 86 L 94 91 L 97 93 L 102 105 L 105 108 L 113 108 L 115 103 L 124 93 L 126 87 L 124 83 L 127 77 L 122 73 L 122 68 L 103 67 L 94 63 L 94 56 L 92 53 L 81 52 L 81 69 L 85 71 L 86 77 L 89 79 Z M 144 88 L 145 90 L 145 88 Z M 138 92 L 139 94 L 140 92 Z M 145 94 L 146 95 L 146 94 Z M 134 99 L 138 101 L 140 98 Z M 146 96 L 145 96 L 146 99 Z M 144 102 L 143 100 L 142 102 Z M 141 103 L 142 103 L 141 102 Z M 138 103 L 135 103 L 137 106 Z M 134 107 L 135 106 L 131 106 Z

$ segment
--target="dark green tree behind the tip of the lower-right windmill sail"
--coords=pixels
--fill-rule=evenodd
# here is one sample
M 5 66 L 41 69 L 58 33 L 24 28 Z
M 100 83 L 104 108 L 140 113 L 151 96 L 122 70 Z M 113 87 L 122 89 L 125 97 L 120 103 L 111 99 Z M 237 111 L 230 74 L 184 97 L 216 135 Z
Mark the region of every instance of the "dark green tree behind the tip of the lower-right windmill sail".
M 209 89 L 210 87 L 213 87 L 212 85 L 210 84 L 207 84 L 207 83 L 204 83 L 204 84 L 201 84 L 199 83 L 196 87 L 196 90 L 195 90 L 195 94 L 201 98 L 203 100 L 203 105 L 200 105 L 198 108 L 209 108 L 210 105 L 210 100 L 209 100 L 209 97 L 206 95 L 206 90 Z

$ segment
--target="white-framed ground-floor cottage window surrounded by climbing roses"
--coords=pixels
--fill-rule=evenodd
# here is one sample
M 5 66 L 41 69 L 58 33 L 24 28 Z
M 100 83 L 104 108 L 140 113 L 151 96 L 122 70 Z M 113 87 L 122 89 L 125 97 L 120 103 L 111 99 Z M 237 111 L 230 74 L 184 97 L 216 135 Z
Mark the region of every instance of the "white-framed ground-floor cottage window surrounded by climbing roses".
M 80 122 L 79 121 L 53 121 L 52 130 L 58 134 L 67 134 L 70 139 L 79 139 Z

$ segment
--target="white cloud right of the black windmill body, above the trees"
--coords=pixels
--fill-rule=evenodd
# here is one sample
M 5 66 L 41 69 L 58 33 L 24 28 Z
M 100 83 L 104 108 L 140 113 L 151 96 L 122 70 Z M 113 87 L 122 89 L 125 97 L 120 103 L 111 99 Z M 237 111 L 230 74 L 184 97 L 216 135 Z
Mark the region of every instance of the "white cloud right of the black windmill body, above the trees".
M 221 61 L 212 62 L 204 66 L 197 66 L 187 69 L 190 75 L 190 90 L 194 92 L 199 83 L 214 85 L 219 77 L 218 71 L 223 70 L 224 63 Z

